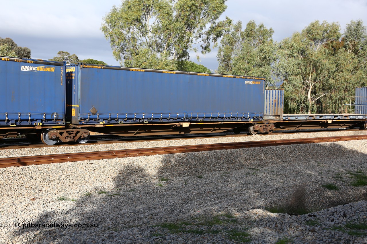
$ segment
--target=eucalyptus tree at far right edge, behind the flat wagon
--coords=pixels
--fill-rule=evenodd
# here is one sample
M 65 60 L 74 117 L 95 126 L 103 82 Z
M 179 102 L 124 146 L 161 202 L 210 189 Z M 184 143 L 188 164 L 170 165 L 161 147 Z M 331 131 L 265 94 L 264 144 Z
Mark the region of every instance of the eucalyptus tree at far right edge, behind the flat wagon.
M 334 51 L 334 70 L 323 97 L 323 112 L 345 112 L 348 97 L 354 99 L 355 88 L 367 85 L 367 28 L 361 20 L 345 27 L 340 41 L 330 43 Z M 347 99 L 345 99 L 347 98 Z

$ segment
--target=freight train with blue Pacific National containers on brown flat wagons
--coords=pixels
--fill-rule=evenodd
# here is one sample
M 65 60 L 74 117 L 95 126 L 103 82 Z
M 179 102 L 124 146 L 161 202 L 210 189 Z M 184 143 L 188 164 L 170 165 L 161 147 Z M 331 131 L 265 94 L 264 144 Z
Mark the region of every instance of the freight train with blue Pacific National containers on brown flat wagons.
M 283 90 L 265 86 L 262 77 L 0 56 L 0 138 L 366 128 L 366 114 L 283 114 Z

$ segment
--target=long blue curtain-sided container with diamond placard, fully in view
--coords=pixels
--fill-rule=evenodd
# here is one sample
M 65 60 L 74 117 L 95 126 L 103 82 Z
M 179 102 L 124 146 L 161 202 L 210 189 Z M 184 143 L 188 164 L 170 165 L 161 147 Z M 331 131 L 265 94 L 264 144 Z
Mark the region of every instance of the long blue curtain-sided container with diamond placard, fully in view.
M 262 121 L 264 78 L 67 66 L 67 114 L 76 124 Z

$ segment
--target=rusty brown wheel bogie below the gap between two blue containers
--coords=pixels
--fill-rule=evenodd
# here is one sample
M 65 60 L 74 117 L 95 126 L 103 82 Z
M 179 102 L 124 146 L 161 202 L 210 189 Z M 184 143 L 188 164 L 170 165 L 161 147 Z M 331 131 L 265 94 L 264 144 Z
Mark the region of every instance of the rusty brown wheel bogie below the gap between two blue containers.
M 89 139 L 89 131 L 86 129 L 47 129 L 41 134 L 41 140 L 46 145 L 54 145 L 58 141 L 65 143 L 86 143 Z

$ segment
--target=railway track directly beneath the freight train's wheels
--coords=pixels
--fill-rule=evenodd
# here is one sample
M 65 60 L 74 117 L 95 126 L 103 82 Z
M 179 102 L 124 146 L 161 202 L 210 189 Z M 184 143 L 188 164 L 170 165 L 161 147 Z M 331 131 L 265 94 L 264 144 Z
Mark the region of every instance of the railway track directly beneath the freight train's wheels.
M 294 133 L 310 133 L 310 132 L 330 132 L 330 131 L 358 131 L 361 129 L 319 129 L 319 130 L 275 130 L 273 134 L 294 134 Z M 268 134 L 258 134 L 259 136 L 266 136 Z M 252 136 L 247 133 L 235 134 L 233 132 L 226 133 L 210 133 L 210 134 L 187 134 L 187 135 L 164 135 L 164 136 L 134 136 L 134 137 L 121 137 L 114 135 L 95 135 L 90 136 L 90 140 L 84 145 L 95 144 L 107 144 L 107 143 L 126 143 L 126 142 L 139 142 L 139 141 L 157 141 L 157 140 L 174 140 L 174 139 L 198 139 L 198 138 L 218 138 L 218 137 L 239 137 L 239 136 Z M 31 143 L 26 138 L 7 138 L 0 140 L 0 150 L 10 148 L 41 148 L 41 147 L 60 147 L 60 146 L 78 146 L 82 144 L 68 144 L 57 143 L 55 145 L 45 145 L 41 142 Z

